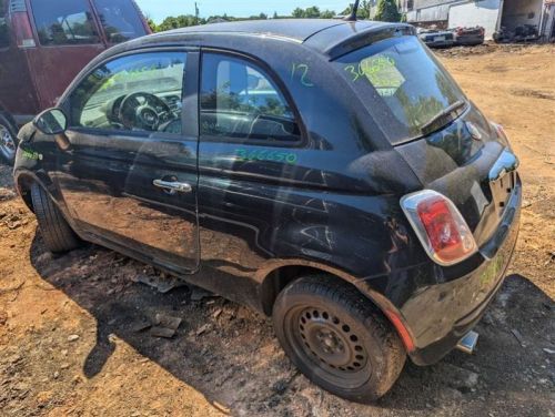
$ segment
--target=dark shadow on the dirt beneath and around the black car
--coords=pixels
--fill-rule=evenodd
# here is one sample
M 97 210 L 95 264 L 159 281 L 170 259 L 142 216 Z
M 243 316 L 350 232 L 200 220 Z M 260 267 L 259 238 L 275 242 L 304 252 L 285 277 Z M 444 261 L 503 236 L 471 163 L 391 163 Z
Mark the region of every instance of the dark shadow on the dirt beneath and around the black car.
M 407 363 L 390 394 L 361 406 L 301 376 L 270 321 L 244 307 L 215 296 L 192 301 L 189 286 L 160 294 L 132 279 L 155 271 L 97 246 L 52 257 L 36 235 L 30 256 L 42 279 L 97 321 L 97 343 L 82 365 L 88 378 L 102 373 L 115 336 L 232 414 L 541 416 L 553 408 L 555 372 L 545 349 L 555 348 L 554 303 L 522 275 L 506 278 L 478 325 L 475 355 L 453 352 L 425 368 Z M 172 339 L 142 328 L 157 314 L 183 318 Z

